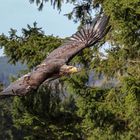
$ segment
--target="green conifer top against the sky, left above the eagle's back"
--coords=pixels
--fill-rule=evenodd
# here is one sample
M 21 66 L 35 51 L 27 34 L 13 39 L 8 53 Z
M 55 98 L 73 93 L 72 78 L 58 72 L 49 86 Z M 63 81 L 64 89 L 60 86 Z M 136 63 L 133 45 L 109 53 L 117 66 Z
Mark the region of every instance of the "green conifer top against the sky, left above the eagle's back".
M 45 36 L 41 28 L 34 23 L 33 27 L 27 25 L 22 29 L 22 36 L 11 29 L 9 37 L 0 36 L 0 45 L 4 46 L 4 53 L 10 58 L 9 62 L 21 61 L 31 69 L 46 58 L 49 52 L 61 44 L 61 39 L 53 36 Z

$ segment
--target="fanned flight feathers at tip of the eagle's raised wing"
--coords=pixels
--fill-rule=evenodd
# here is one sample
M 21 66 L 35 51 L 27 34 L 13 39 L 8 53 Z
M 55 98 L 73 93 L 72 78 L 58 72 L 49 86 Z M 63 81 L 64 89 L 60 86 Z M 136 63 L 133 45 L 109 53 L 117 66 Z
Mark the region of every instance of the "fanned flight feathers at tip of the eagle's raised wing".
M 109 17 L 103 15 L 93 20 L 92 24 L 87 24 L 71 36 L 70 41 L 83 42 L 87 46 L 92 46 L 102 39 L 109 31 L 110 27 L 106 27 Z

